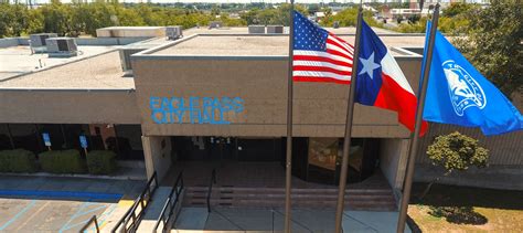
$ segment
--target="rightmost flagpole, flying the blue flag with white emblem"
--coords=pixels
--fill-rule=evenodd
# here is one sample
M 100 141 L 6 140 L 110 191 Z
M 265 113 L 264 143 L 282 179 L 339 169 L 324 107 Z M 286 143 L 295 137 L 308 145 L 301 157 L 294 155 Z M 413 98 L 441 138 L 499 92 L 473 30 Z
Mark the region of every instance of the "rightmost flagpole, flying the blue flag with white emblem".
M 430 74 L 430 63 L 433 61 L 433 51 L 436 38 L 436 30 L 438 28 L 438 19 L 439 19 L 439 3 L 436 3 L 434 8 L 433 14 L 433 22 L 430 27 L 430 38 L 428 40 L 428 49 L 427 49 L 427 59 L 425 61 L 425 65 L 423 67 L 423 83 L 421 89 L 419 91 L 419 102 L 418 107 L 416 109 L 416 125 L 414 128 L 414 137 L 413 144 L 410 146 L 410 151 L 408 155 L 408 163 L 407 163 L 407 174 L 405 177 L 405 187 L 403 189 L 403 198 L 402 204 L 399 205 L 399 216 L 397 221 L 397 233 L 403 233 L 405 231 L 405 223 L 407 220 L 407 209 L 408 209 L 408 201 L 410 199 L 410 189 L 413 186 L 413 177 L 414 177 L 414 163 L 416 161 L 416 152 L 418 150 L 418 142 L 419 142 L 419 131 L 421 130 L 421 121 L 423 121 L 423 109 L 425 107 L 425 98 L 427 96 L 427 86 L 428 86 L 428 77 Z

